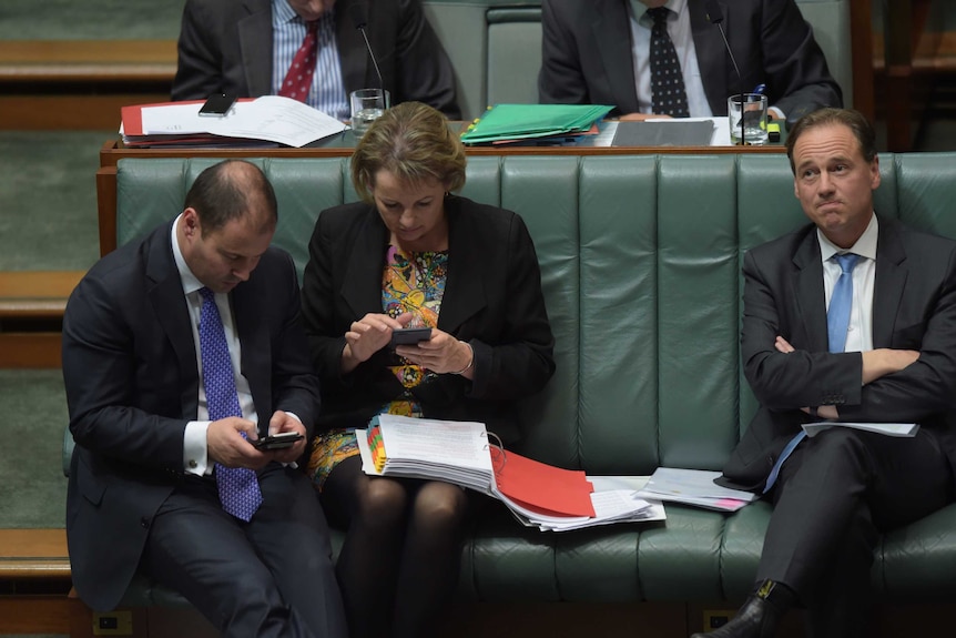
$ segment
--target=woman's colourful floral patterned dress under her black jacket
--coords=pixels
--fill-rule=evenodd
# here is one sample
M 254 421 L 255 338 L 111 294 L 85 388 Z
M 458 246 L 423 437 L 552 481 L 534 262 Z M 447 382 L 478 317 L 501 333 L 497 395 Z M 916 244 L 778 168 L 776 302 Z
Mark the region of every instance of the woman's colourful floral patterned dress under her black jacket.
M 447 251 L 406 252 L 397 246 L 388 246 L 382 276 L 382 307 L 385 314 L 397 317 L 411 313 L 413 318 L 407 327 L 438 327 L 438 313 L 447 279 Z M 405 389 L 382 406 L 379 413 L 420 417 L 421 406 L 411 389 L 434 381 L 437 375 L 405 359 L 389 369 Z M 313 440 L 308 475 L 315 486 L 322 489 L 333 468 L 357 454 L 358 444 L 353 429 L 324 432 Z

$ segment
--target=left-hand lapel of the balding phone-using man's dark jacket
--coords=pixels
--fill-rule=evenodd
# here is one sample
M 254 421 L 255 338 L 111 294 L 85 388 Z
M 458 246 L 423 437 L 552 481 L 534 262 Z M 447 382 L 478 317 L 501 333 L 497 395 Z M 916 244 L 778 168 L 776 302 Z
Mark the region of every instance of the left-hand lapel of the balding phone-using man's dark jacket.
M 170 340 L 179 363 L 180 404 L 183 416 L 195 418 L 200 375 L 196 369 L 196 346 L 193 342 L 190 312 L 183 294 L 183 283 L 173 260 L 170 245 L 170 225 L 155 231 L 149 241 L 146 263 L 146 295 L 153 315 Z

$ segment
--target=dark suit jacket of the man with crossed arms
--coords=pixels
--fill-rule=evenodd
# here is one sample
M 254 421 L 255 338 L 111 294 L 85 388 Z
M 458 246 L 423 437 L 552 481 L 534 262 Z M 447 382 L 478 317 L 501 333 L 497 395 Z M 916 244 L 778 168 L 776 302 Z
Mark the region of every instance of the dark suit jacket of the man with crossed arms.
M 749 251 L 741 356 L 761 407 L 724 467 L 730 480 L 762 485 L 811 421 L 800 407 L 818 405 L 847 422 L 921 423 L 956 468 L 956 242 L 878 221 L 873 347 L 916 350 L 919 359 L 861 386 L 861 354 L 827 352 L 814 225 Z M 777 335 L 796 352 L 776 352 Z

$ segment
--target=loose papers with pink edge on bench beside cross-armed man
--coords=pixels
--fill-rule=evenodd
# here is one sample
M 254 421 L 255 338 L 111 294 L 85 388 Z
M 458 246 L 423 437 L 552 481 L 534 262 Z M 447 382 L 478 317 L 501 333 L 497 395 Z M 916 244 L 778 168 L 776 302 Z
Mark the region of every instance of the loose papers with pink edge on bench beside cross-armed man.
M 753 493 L 716 485 L 713 480 L 720 475 L 720 472 L 659 467 L 638 496 L 719 512 L 736 512 L 756 499 Z

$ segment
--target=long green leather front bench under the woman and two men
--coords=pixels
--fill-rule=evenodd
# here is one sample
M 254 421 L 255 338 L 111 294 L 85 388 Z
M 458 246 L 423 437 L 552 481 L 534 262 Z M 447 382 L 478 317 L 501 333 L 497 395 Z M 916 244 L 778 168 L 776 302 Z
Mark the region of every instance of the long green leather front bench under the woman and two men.
M 348 160 L 254 161 L 278 196 L 275 243 L 301 273 L 319 211 L 355 200 Z M 212 162 L 121 161 L 119 242 L 175 216 Z M 956 154 L 886 154 L 882 172 L 877 211 L 956 237 Z M 558 368 L 525 406 L 521 452 L 592 475 L 719 469 L 755 409 L 739 354 L 743 252 L 805 221 L 786 158 L 477 156 L 462 194 L 519 212 L 541 263 Z M 490 508 L 464 549 L 462 599 L 740 600 L 770 507 L 667 512 L 664 524 L 555 534 Z M 886 534 L 873 584 L 893 600 L 939 599 L 953 565 L 956 506 Z M 138 581 L 128 601 L 176 597 Z

